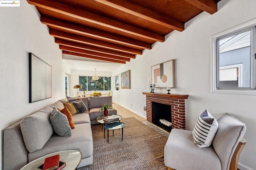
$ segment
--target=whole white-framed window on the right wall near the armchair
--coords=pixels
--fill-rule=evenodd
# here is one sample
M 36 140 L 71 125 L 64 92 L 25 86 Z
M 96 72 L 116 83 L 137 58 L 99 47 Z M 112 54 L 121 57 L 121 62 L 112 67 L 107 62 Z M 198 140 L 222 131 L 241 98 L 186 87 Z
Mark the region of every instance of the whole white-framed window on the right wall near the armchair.
M 255 27 L 213 37 L 212 92 L 255 89 L 255 38 Z

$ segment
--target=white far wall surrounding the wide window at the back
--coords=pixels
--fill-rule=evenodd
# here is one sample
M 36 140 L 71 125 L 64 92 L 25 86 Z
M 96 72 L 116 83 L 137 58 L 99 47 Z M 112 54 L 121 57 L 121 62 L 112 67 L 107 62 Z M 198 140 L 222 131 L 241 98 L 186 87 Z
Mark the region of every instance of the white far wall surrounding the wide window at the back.
M 79 84 L 79 76 L 94 76 L 94 71 L 85 71 L 85 70 L 71 70 L 71 97 L 77 96 L 77 89 L 73 89 L 74 85 Z M 111 77 L 111 83 L 113 84 L 113 77 L 112 77 L 112 71 L 97 71 L 96 70 L 96 76 L 110 76 Z M 88 92 L 90 93 L 90 92 Z M 78 92 L 78 95 L 81 96 L 80 92 Z

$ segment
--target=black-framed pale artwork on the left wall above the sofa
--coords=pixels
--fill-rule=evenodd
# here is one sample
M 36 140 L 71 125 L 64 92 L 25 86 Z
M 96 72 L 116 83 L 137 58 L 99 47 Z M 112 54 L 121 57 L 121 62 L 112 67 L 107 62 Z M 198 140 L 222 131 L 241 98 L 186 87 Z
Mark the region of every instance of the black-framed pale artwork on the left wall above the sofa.
M 52 66 L 29 53 L 29 103 L 52 97 Z

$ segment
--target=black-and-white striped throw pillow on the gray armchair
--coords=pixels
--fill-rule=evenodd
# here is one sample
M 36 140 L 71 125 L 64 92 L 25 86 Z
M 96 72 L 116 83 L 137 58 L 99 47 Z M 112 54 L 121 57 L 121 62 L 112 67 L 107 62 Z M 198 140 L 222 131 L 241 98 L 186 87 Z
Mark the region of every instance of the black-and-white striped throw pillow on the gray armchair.
M 205 110 L 198 118 L 192 131 L 194 143 L 199 148 L 204 148 L 212 144 L 212 140 L 218 130 L 218 122 Z

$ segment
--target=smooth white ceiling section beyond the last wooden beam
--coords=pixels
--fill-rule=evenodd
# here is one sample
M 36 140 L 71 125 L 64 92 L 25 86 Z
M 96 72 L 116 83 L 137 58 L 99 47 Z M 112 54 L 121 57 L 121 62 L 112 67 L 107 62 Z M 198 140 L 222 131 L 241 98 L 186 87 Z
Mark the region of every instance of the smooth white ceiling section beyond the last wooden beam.
M 89 59 L 85 57 L 72 56 L 72 59 L 69 59 L 70 56 L 67 54 L 62 54 L 64 66 L 66 70 L 85 70 L 85 71 L 114 71 L 118 67 L 121 67 L 124 64 L 120 63 L 111 63 L 104 62 L 102 60 Z M 82 61 L 81 61 L 82 60 Z

